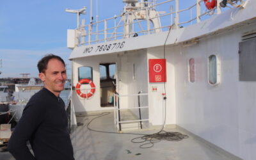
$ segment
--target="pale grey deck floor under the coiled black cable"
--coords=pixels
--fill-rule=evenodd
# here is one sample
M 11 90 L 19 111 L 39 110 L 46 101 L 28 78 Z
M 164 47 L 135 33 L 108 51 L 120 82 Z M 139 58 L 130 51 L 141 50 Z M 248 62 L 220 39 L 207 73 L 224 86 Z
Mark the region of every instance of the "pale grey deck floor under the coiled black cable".
M 93 113 L 91 115 L 95 115 Z M 86 125 L 95 116 L 79 116 L 77 122 L 83 123 L 71 134 L 74 154 L 77 160 L 115 160 L 115 159 L 172 159 L 172 160 L 226 160 L 226 155 L 214 150 L 205 143 L 189 136 L 182 141 L 160 141 L 152 148 L 140 148 L 140 143 L 132 143 L 131 139 L 138 135 L 109 134 L 89 131 Z M 100 131 L 116 132 L 113 113 L 93 120 L 90 127 Z M 164 129 L 165 131 L 179 131 L 178 129 Z M 157 130 L 136 133 L 152 134 Z M 182 132 L 184 134 L 184 132 Z M 129 153 L 129 151 L 131 153 Z M 140 155 L 136 155 L 140 154 Z

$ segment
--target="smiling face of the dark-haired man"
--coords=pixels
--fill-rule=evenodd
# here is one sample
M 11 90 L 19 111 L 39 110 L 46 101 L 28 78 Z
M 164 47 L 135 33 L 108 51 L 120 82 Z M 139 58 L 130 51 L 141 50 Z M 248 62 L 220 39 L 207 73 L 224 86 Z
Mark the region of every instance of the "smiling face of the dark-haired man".
M 67 79 L 66 68 L 61 61 L 51 59 L 48 61 L 47 69 L 45 72 L 41 72 L 39 77 L 44 82 L 45 88 L 58 97 L 60 92 L 64 90 Z

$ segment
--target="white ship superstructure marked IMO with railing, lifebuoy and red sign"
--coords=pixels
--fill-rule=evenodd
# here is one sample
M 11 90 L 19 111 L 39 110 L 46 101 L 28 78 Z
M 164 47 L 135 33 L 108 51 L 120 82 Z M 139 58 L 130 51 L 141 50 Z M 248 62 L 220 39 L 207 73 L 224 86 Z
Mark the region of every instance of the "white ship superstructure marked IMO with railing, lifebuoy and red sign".
M 178 0 L 124 3 L 120 16 L 68 30 L 74 111 L 113 109 L 118 131 L 172 125 L 256 159 L 256 1 L 221 12 L 218 0 L 205 13 L 200 0 L 182 10 Z

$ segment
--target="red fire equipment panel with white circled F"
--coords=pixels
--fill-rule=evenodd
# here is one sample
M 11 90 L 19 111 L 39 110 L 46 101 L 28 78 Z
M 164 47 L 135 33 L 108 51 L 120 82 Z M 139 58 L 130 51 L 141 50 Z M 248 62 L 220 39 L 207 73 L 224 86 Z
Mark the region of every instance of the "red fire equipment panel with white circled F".
M 166 82 L 166 60 L 165 59 L 149 59 L 149 82 Z

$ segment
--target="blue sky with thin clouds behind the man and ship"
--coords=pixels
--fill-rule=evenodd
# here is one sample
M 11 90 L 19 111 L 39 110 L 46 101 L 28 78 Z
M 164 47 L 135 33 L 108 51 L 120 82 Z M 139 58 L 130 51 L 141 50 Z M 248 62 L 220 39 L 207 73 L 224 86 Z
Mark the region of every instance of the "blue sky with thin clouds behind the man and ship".
M 180 9 L 196 0 L 180 0 Z M 96 15 L 96 0 L 93 0 L 93 15 Z M 122 0 L 98 0 L 99 20 L 119 15 Z M 67 49 L 67 29 L 76 28 L 76 14 L 65 12 L 66 8 L 87 7 L 90 15 L 90 0 L 12 0 L 0 5 L 0 59 L 3 60 L 1 77 L 20 77 L 29 73 L 37 77 L 36 64 L 48 53 L 61 56 L 70 70 Z

